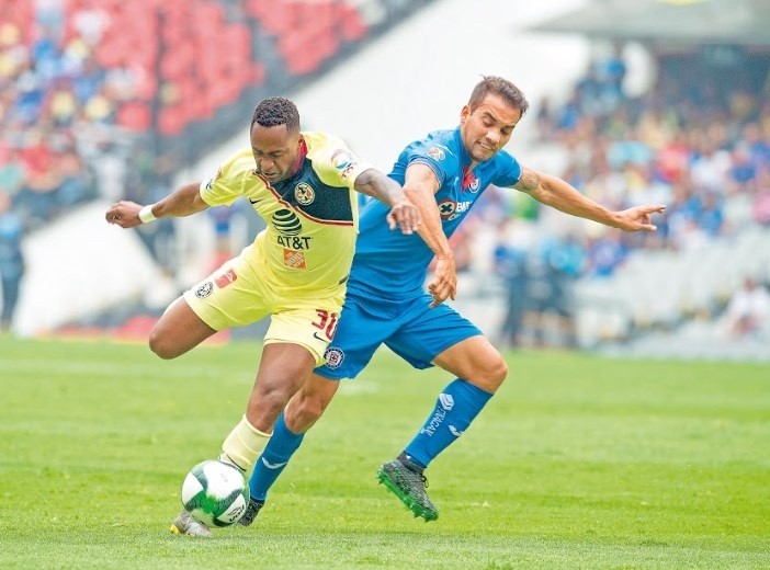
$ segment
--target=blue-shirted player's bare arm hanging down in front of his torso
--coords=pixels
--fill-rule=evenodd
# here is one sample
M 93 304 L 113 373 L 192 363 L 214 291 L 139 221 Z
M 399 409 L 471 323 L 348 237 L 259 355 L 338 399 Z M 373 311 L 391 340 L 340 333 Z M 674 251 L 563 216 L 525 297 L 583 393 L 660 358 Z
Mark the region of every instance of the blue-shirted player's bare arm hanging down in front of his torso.
M 437 260 L 433 280 L 428 285 L 428 293 L 433 297 L 431 307 L 440 305 L 448 298 L 454 299 L 457 294 L 454 253 L 441 227 L 439 206 L 435 203 L 435 193 L 439 187 L 439 180 L 426 164 L 410 164 L 407 169 L 404 193 L 422 215 L 422 226 L 417 233 L 435 254 Z

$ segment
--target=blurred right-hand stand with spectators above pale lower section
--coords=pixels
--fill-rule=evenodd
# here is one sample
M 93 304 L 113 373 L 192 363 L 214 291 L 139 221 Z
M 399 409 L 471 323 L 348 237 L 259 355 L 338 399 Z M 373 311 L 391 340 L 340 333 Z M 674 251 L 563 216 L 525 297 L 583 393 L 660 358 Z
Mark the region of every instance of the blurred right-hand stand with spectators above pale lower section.
M 725 307 L 747 277 L 770 285 L 770 46 L 752 33 L 756 22 L 746 33 L 698 30 L 698 14 L 729 10 L 725 2 L 655 4 L 590 4 L 539 26 L 585 33 L 601 54 L 565 102 L 548 101 L 537 117 L 544 140 L 567 149 L 565 178 L 615 207 L 668 204 L 658 235 L 584 232 L 586 249 L 601 255 L 589 254 L 574 290 L 579 344 L 768 358 L 767 337 L 731 342 Z M 765 18 L 756 2 L 741 5 Z M 627 11 L 633 22 L 620 18 Z M 666 14 L 680 25 L 653 25 Z M 623 23 L 601 25 L 608 19 Z M 634 95 L 623 89 L 631 42 L 645 46 L 657 69 L 649 89 Z

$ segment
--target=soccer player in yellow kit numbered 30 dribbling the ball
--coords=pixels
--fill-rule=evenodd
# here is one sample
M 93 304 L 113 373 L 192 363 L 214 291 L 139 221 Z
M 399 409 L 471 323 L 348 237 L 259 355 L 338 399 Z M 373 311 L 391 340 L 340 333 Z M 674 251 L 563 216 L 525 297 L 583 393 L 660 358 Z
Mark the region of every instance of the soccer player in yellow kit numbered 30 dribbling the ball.
M 174 358 L 217 331 L 271 316 L 246 413 L 225 438 L 220 460 L 241 471 L 262 453 L 275 420 L 310 377 L 335 335 L 358 232 L 353 191 L 389 206 L 387 224 L 417 231 L 419 210 L 401 186 L 358 158 L 337 137 L 299 130 L 299 113 L 284 98 L 268 98 L 251 119 L 251 149 L 220 166 L 216 175 L 140 206 L 113 204 L 110 224 L 133 228 L 156 218 L 189 216 L 247 198 L 267 229 L 240 255 L 169 306 L 149 337 L 161 358 Z M 210 536 L 182 513 L 171 529 Z

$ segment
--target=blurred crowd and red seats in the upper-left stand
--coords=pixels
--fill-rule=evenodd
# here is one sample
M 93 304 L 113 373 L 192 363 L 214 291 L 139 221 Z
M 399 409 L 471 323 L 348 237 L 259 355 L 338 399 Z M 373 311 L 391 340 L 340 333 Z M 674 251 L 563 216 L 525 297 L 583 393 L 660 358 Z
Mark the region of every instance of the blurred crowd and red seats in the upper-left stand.
M 3 328 L 24 235 L 95 197 L 158 200 L 242 128 L 262 91 L 320 72 L 424 3 L 0 0 Z M 161 264 L 172 232 L 140 232 Z

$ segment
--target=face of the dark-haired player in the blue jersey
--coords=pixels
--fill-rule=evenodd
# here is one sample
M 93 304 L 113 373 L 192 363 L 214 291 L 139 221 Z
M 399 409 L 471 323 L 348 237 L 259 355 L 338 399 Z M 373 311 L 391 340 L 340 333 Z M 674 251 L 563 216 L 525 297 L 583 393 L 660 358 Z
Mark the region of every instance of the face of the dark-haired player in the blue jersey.
M 460 115 L 460 132 L 471 159 L 484 162 L 492 158 L 508 144 L 520 118 L 520 110 L 495 94 L 488 94 L 473 111 L 465 105 Z

